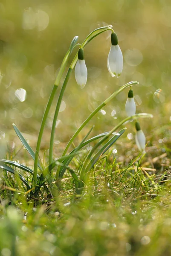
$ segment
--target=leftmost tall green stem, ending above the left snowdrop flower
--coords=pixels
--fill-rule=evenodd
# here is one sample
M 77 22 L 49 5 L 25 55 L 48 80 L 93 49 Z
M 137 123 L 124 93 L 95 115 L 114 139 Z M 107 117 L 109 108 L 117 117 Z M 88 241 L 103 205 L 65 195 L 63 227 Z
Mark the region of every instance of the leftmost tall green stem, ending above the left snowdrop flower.
M 70 54 L 72 52 L 72 45 L 75 44 L 75 42 L 78 40 L 78 37 L 75 37 L 72 42 L 71 42 L 71 46 L 70 48 L 68 49 L 63 61 L 62 61 L 62 64 L 61 64 L 61 68 L 59 70 L 59 73 L 58 73 L 58 76 L 55 80 L 55 83 L 53 85 L 53 88 L 52 88 L 52 92 L 50 94 L 50 97 L 49 97 L 49 100 L 48 100 L 48 103 L 46 105 L 46 109 L 44 111 L 44 114 L 43 114 L 43 119 L 42 119 L 42 122 L 41 122 L 41 128 L 40 128 L 40 131 L 39 131 L 39 135 L 38 135 L 38 141 L 37 141 L 37 145 L 36 145 L 36 152 L 35 152 L 35 162 L 34 162 L 34 173 L 33 173 L 33 187 L 36 186 L 36 182 L 37 182 L 37 172 L 38 172 L 38 157 L 39 157 L 39 151 L 40 151 L 40 147 L 41 147 L 41 139 L 42 139 L 42 136 L 43 136 L 43 130 L 44 130 L 44 127 L 45 127 L 45 123 L 46 123 L 46 119 L 47 119 L 47 116 L 49 114 L 49 110 L 50 110 L 50 107 L 52 105 L 52 101 L 54 99 L 54 96 L 55 96 L 55 92 L 59 86 L 59 83 L 61 81 L 61 77 L 64 73 L 64 70 L 65 70 L 65 67 L 67 65 L 67 62 L 68 62 L 68 59 L 70 57 Z

